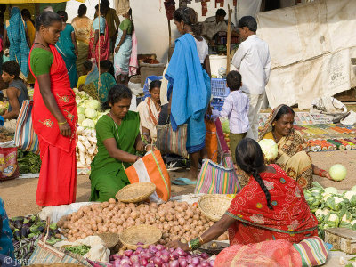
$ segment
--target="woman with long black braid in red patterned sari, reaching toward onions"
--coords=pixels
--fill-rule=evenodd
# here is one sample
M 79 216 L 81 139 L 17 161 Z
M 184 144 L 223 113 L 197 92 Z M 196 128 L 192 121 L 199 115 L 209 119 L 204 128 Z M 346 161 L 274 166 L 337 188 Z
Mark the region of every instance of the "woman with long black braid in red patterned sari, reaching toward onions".
M 229 231 L 231 245 L 284 239 L 298 243 L 318 236 L 318 220 L 305 201 L 303 190 L 277 165 L 266 166 L 257 142 L 246 138 L 236 149 L 238 166 L 249 182 L 231 201 L 222 219 L 188 244 L 171 242 L 170 247 L 189 250 Z

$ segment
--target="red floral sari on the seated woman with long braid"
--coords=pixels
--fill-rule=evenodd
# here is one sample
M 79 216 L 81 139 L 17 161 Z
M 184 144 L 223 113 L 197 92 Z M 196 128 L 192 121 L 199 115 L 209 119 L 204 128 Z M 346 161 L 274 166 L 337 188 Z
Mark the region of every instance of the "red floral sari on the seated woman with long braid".
M 260 185 L 250 177 L 247 185 L 231 201 L 226 214 L 236 219 L 229 228 L 231 245 L 286 239 L 299 243 L 318 236 L 318 220 L 305 201 L 303 190 L 278 166 L 276 174 L 260 174 L 271 193 L 270 210 Z

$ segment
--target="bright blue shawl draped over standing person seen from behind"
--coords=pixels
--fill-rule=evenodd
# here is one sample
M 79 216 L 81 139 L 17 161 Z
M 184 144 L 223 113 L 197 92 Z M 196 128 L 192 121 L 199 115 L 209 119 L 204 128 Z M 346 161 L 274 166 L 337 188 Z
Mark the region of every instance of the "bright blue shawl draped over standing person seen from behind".
M 188 151 L 202 149 L 206 134 L 204 116 L 211 95 L 210 77 L 200 64 L 197 44 L 190 34 L 175 41 L 165 77 L 168 80 L 168 99 L 172 93 L 171 123 L 174 131 L 178 125 L 188 123 Z

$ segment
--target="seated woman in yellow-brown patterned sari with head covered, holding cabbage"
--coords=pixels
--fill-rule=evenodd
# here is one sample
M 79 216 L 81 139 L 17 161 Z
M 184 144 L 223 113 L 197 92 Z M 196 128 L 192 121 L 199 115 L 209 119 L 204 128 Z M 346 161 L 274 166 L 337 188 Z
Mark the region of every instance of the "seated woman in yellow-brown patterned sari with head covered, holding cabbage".
M 295 131 L 294 121 L 295 111 L 287 105 L 279 105 L 268 117 L 259 140 L 273 139 L 278 144 L 279 153 L 273 163 L 303 189 L 312 186 L 312 174 L 332 180 L 327 171 L 312 164 L 312 158 L 305 151 L 307 143 L 302 134 Z

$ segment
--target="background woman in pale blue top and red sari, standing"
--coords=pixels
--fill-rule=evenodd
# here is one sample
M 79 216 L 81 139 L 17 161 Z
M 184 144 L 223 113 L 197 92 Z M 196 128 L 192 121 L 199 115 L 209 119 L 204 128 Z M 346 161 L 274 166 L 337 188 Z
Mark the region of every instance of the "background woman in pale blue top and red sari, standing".
M 98 15 L 93 20 L 93 28 L 90 33 L 88 59 L 95 59 L 96 62 L 109 60 L 109 29 L 105 20 L 105 14 L 108 12 L 107 7 L 101 4 L 100 12 L 98 5 L 95 6 Z M 100 48 L 100 53 L 99 53 Z

